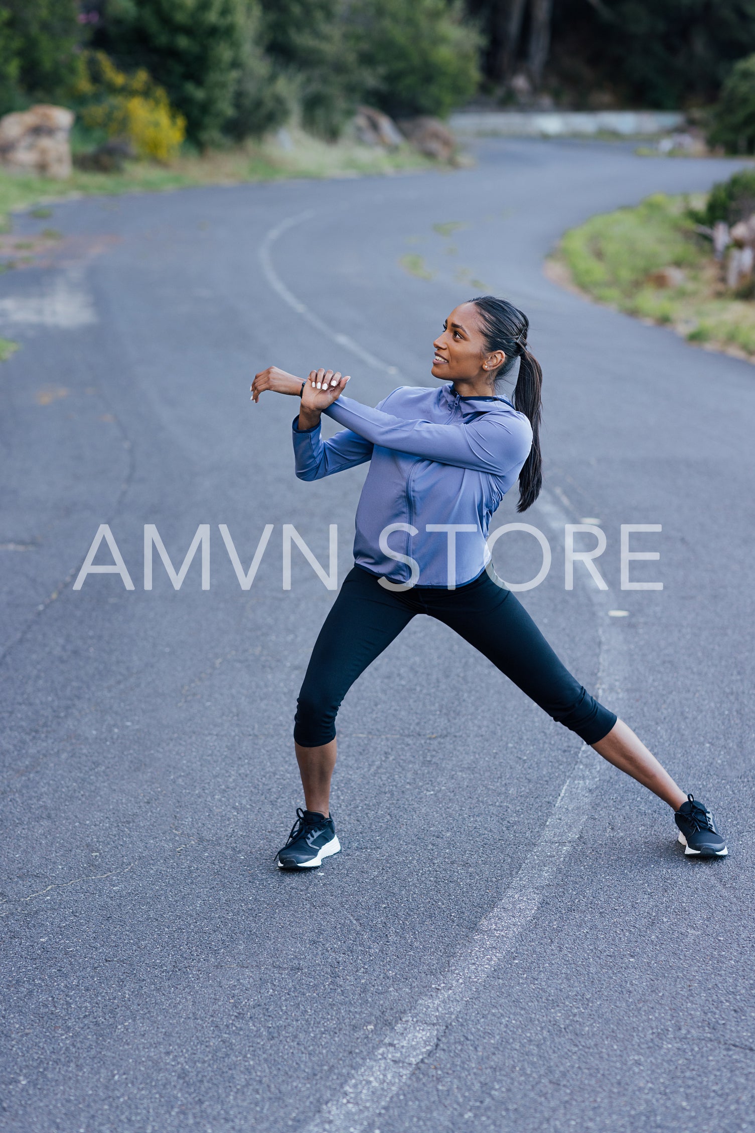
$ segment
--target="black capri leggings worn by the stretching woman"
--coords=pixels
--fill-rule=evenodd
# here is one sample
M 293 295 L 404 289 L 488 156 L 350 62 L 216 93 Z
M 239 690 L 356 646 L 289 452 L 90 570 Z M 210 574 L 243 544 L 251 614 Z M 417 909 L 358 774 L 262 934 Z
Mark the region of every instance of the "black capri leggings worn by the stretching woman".
M 297 702 L 297 743 L 317 748 L 335 739 L 335 717 L 346 692 L 415 614 L 449 625 L 585 743 L 602 740 L 616 724 L 614 713 L 561 664 L 514 594 L 497 586 L 487 571 L 455 590 L 415 586 L 396 591 L 354 566 L 309 659 Z

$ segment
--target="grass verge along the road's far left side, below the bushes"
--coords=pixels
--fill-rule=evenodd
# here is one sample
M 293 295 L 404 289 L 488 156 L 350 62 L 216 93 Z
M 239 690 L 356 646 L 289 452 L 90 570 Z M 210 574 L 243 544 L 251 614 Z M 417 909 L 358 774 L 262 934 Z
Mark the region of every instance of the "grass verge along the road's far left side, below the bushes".
M 128 162 L 122 173 L 74 170 L 67 181 L 0 171 L 0 231 L 9 230 L 11 212 L 65 197 L 158 193 L 196 185 L 234 185 L 295 177 L 360 177 L 449 168 L 424 157 L 409 145 L 386 153 L 349 140 L 328 144 L 302 130 L 292 129 L 289 136 L 289 150 L 268 140 L 199 156 L 180 157 L 170 167 Z M 42 215 L 42 212 L 38 214 Z

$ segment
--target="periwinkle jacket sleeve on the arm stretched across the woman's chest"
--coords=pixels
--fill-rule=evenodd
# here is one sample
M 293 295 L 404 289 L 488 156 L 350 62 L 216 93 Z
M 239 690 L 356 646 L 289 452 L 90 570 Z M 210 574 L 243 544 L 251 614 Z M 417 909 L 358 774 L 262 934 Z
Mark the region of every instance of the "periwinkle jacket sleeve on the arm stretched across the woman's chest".
M 343 394 L 325 412 L 371 445 L 494 476 L 524 463 L 532 444 L 529 421 L 521 415 L 484 414 L 469 424 L 437 425 L 404 420 Z

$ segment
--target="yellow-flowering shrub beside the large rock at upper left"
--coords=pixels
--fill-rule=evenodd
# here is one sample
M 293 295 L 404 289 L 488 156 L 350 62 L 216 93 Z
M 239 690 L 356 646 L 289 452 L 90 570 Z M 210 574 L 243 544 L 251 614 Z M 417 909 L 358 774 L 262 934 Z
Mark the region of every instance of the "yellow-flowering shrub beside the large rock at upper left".
M 85 126 L 128 138 L 138 157 L 169 162 L 186 137 L 186 118 L 149 73 L 126 75 L 104 51 L 85 52 L 74 96 Z

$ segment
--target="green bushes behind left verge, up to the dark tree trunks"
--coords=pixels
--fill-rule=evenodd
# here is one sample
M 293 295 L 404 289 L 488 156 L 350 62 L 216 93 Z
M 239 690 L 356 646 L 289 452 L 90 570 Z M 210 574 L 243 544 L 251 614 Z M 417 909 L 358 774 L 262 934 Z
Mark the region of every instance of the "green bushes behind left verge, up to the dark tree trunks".
M 3 0 L 0 111 L 75 101 L 87 43 L 123 74 L 146 71 L 199 146 L 297 109 L 325 137 L 366 101 L 446 114 L 479 82 L 462 0 Z

